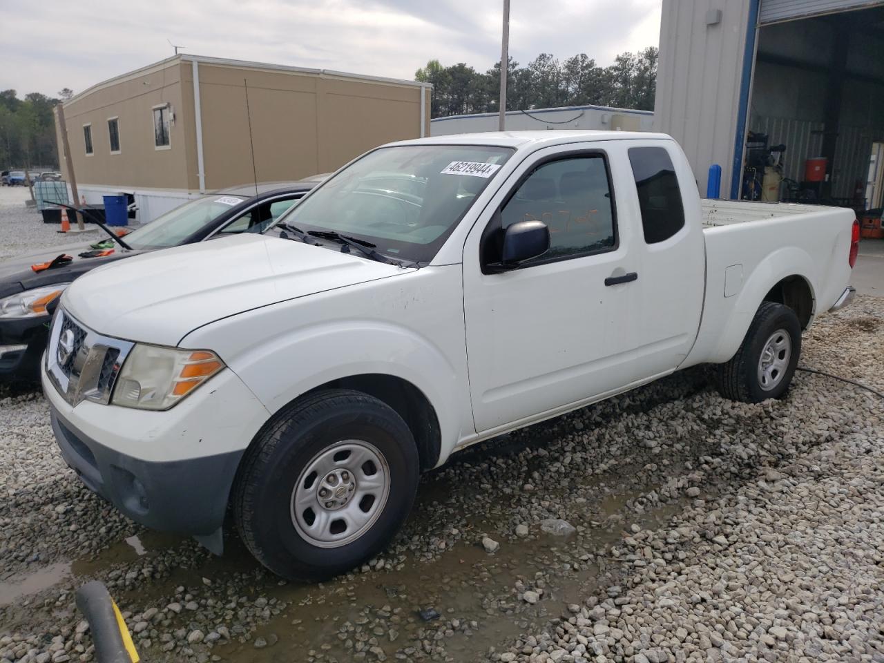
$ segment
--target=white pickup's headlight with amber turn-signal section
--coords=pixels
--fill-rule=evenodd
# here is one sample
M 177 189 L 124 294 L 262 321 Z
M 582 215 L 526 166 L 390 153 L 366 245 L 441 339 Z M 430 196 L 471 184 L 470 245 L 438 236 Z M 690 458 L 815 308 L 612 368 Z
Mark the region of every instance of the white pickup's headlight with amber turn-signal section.
M 126 408 L 168 409 L 223 368 L 224 362 L 210 350 L 136 343 L 119 372 L 110 402 Z

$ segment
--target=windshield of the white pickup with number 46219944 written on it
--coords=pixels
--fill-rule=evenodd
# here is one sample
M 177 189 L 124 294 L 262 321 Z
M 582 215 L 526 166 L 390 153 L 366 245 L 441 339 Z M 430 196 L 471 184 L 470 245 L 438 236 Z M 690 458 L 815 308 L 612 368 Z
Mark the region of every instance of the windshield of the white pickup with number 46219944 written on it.
M 394 258 L 429 263 L 513 150 L 476 145 L 377 149 L 280 220 L 339 232 Z

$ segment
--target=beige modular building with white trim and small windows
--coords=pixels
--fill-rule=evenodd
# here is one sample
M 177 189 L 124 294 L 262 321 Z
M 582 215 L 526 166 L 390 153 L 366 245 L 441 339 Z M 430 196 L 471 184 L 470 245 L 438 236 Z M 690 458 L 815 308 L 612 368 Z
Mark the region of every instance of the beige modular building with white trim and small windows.
M 207 191 L 334 171 L 429 135 L 430 95 L 413 80 L 180 54 L 98 83 L 64 110 L 80 194 L 90 204 L 130 194 L 145 223 Z

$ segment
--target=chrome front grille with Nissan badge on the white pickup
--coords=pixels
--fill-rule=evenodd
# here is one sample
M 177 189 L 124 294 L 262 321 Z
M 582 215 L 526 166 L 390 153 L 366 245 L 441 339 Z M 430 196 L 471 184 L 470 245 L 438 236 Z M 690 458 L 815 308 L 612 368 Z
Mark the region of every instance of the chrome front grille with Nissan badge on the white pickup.
M 71 405 L 109 403 L 120 367 L 133 343 L 103 336 L 59 307 L 46 348 L 46 373 Z

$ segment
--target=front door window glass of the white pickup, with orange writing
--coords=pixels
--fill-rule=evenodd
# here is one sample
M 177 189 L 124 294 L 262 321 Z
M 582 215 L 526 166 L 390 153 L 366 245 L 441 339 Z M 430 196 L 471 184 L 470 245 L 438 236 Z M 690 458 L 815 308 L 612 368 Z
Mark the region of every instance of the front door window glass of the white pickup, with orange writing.
M 503 229 L 543 221 L 550 249 L 532 263 L 550 263 L 615 248 L 616 224 L 605 156 L 569 156 L 541 164 L 500 210 Z

